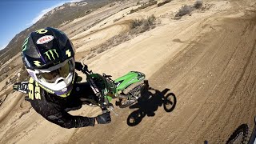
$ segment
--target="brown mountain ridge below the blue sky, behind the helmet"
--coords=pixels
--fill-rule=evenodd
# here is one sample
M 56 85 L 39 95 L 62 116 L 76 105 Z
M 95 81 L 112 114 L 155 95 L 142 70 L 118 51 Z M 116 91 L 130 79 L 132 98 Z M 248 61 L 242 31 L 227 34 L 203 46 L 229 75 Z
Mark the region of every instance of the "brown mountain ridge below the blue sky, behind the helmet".
M 0 50 L 0 64 L 7 62 L 22 50 L 22 43 L 30 32 L 48 26 L 58 28 L 64 22 L 71 22 L 75 18 L 81 18 L 86 14 L 90 14 L 91 11 L 115 1 L 98 0 L 95 2 L 93 0 L 83 0 L 80 2 L 66 2 L 62 6 L 55 7 L 53 10 L 44 14 L 38 22 L 16 34 L 7 46 Z

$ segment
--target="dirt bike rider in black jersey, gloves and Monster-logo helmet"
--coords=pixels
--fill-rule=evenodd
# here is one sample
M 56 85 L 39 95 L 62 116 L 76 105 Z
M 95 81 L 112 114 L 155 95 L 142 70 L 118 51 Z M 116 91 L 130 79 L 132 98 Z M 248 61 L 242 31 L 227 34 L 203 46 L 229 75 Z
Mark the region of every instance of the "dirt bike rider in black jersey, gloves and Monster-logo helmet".
M 88 83 L 77 83 L 74 48 L 62 31 L 46 27 L 30 33 L 22 46 L 22 61 L 30 74 L 31 106 L 43 118 L 64 128 L 111 122 L 110 112 L 95 118 L 67 113 L 80 109 L 80 98 L 92 97 L 94 92 Z M 81 63 L 76 64 L 82 66 Z

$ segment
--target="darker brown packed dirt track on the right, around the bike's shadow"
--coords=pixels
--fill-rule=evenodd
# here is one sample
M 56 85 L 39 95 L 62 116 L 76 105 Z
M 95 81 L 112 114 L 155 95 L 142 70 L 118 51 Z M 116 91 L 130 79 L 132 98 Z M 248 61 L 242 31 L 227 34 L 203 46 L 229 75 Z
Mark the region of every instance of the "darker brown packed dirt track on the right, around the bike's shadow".
M 158 108 L 154 117 L 143 118 L 134 127 L 123 126 L 127 116 L 114 118 L 107 130 L 78 130 L 70 142 L 223 143 L 242 123 L 253 126 L 255 24 L 254 12 L 242 18 L 206 18 L 199 28 L 212 30 L 190 42 L 149 79 L 154 89 L 175 94 L 173 112 Z M 124 111 L 120 113 L 134 110 Z

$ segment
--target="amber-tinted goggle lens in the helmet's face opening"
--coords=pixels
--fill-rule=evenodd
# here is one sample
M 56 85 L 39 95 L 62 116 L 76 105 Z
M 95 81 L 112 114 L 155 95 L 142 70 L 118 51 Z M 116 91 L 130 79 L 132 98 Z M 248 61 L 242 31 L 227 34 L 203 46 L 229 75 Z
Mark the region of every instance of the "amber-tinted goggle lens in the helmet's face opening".
M 58 78 L 66 78 L 72 73 L 74 70 L 73 67 L 72 62 L 68 61 L 58 69 L 46 73 L 39 73 L 38 78 L 46 82 L 54 83 Z

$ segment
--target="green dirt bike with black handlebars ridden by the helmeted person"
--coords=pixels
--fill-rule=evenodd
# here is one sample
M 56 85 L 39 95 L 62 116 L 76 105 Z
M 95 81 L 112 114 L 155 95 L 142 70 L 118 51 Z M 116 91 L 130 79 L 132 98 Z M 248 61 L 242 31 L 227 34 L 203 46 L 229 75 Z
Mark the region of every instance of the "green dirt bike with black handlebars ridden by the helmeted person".
M 114 98 L 117 99 L 115 103 L 117 106 L 125 108 L 137 102 L 138 98 L 141 97 L 142 90 L 146 88 L 145 74 L 138 71 L 130 71 L 128 74 L 112 80 L 110 75 L 94 74 L 87 69 L 87 66 L 76 69 L 86 74 L 86 80 L 98 98 L 98 101 L 86 99 L 90 106 L 100 106 L 102 109 L 106 108 L 113 111 L 113 104 L 110 102 Z

